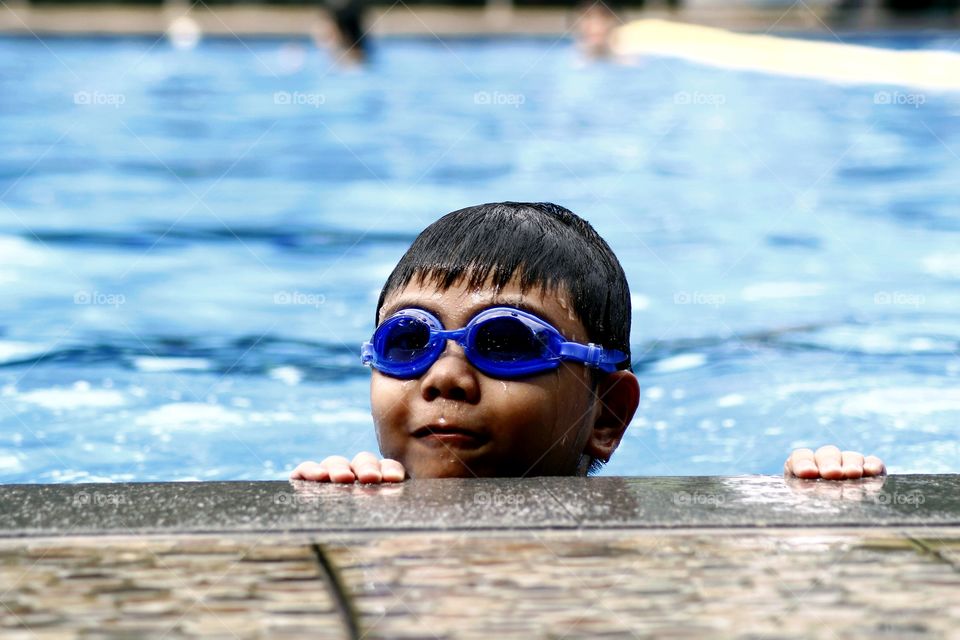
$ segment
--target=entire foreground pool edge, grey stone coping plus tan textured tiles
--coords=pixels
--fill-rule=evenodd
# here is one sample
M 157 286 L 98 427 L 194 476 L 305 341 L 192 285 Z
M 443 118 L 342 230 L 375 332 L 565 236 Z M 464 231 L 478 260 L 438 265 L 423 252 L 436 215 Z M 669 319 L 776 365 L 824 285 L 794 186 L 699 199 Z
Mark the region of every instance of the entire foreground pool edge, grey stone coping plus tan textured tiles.
M 960 476 L 0 486 L 3 638 L 960 638 Z

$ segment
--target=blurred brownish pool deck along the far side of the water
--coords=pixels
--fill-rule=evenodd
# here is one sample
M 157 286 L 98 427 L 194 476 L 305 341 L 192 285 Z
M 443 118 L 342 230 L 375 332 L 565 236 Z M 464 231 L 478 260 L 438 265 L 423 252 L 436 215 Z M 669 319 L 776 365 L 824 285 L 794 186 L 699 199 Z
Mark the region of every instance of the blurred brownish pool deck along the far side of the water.
M 794 2 L 785 6 L 746 7 L 737 3 L 696 3 L 677 10 L 657 8 L 624 11 L 625 21 L 663 18 L 744 31 L 957 30 L 960 13 L 953 16 L 893 16 L 865 10 L 841 19 L 824 3 Z M 191 8 L 192 5 L 192 8 Z M 204 33 L 221 36 L 312 35 L 320 10 L 310 6 L 215 6 L 202 2 L 163 6 L 82 4 L 33 6 L 19 0 L 0 3 L 0 34 L 104 35 L 140 34 L 159 36 L 171 20 L 189 14 Z M 398 2 L 372 7 L 366 17 L 370 33 L 378 35 L 464 36 L 541 35 L 558 36 L 571 30 L 571 12 L 566 9 L 511 8 L 497 3 L 491 8 L 423 7 Z

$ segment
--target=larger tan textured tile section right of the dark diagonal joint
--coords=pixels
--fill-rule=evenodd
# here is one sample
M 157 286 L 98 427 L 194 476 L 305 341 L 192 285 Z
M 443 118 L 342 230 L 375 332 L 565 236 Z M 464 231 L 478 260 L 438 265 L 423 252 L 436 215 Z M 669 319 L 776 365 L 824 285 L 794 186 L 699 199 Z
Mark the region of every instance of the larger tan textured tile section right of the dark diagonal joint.
M 869 531 L 446 533 L 328 549 L 371 638 L 958 637 L 960 568 Z

